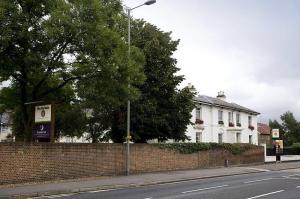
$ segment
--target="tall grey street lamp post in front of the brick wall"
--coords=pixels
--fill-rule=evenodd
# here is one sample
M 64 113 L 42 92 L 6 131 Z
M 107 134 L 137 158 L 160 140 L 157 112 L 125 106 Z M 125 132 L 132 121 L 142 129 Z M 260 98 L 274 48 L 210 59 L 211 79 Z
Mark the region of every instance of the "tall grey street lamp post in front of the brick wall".
M 132 10 L 139 8 L 141 6 L 144 5 L 151 5 L 156 3 L 156 0 L 148 0 L 145 3 L 138 5 L 136 7 L 133 8 L 129 8 L 127 7 L 127 17 L 128 17 L 128 67 L 130 64 L 130 13 Z M 130 79 L 128 77 L 128 88 L 130 87 Z M 126 160 L 126 174 L 129 175 L 130 174 L 130 99 L 128 98 L 127 101 L 127 137 L 126 137 L 126 148 L 127 148 L 127 152 L 126 152 L 126 156 L 127 156 L 127 160 Z

